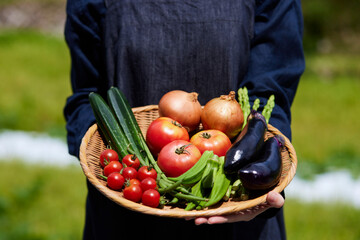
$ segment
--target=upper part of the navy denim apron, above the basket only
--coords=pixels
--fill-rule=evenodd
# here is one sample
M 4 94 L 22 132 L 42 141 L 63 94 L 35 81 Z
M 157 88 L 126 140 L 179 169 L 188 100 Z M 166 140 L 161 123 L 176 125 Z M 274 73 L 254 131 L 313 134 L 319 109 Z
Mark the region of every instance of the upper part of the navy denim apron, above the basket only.
M 253 0 L 106 0 L 107 82 L 132 106 L 167 91 L 202 104 L 237 90 L 248 63 Z M 109 86 L 107 86 L 109 87 Z

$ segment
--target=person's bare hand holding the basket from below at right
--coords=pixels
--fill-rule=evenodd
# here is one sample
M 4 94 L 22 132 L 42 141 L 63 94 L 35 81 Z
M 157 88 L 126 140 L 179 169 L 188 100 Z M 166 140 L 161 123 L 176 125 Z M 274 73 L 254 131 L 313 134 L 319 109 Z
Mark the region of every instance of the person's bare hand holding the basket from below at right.
M 284 205 L 284 201 L 285 200 L 280 193 L 272 191 L 268 193 L 266 197 L 266 203 L 264 204 L 260 204 L 256 207 L 226 216 L 198 217 L 195 218 L 195 224 L 219 224 L 239 221 L 250 221 L 251 219 L 255 218 L 257 215 L 266 211 L 269 208 L 282 207 Z

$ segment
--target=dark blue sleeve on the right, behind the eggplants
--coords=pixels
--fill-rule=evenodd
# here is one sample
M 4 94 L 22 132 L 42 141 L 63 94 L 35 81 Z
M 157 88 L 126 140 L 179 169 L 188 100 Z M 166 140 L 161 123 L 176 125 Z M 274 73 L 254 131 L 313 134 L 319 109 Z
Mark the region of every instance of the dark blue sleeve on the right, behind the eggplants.
M 300 0 L 258 0 L 248 73 L 242 86 L 261 108 L 275 95 L 270 124 L 291 139 L 290 107 L 305 68 Z

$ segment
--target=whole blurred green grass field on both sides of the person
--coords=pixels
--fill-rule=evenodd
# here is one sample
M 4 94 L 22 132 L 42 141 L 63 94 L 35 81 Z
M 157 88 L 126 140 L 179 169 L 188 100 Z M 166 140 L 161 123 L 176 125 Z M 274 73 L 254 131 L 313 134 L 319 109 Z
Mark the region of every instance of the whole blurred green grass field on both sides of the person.
M 360 54 L 312 50 L 306 62 L 292 107 L 297 175 L 311 179 L 345 169 L 359 178 Z M 0 29 L 0 131 L 45 132 L 65 141 L 69 71 L 61 34 Z M 48 159 L 51 163 L 52 156 Z M 0 240 L 81 239 L 86 185 L 79 164 L 2 160 Z M 287 199 L 284 209 L 288 239 L 360 239 L 360 209 L 294 199 Z

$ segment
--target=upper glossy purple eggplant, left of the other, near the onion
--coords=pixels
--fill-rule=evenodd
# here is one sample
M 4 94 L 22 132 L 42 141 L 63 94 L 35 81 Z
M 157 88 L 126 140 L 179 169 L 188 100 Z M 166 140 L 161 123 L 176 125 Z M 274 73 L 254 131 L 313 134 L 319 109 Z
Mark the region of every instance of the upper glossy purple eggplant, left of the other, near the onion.
M 236 174 L 239 169 L 249 164 L 258 155 L 264 145 L 266 131 L 267 124 L 264 116 L 257 111 L 251 111 L 246 126 L 226 152 L 225 174 Z

